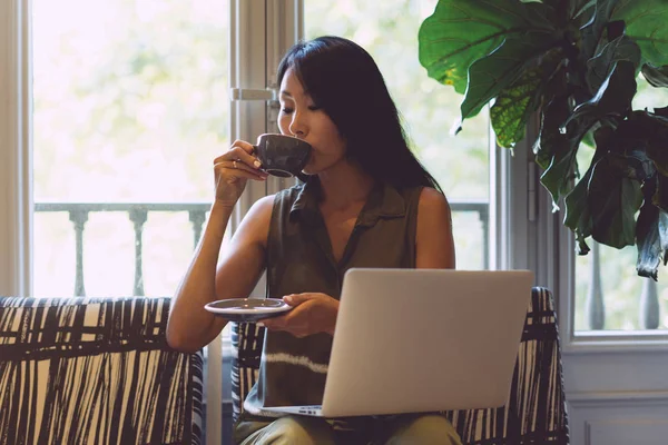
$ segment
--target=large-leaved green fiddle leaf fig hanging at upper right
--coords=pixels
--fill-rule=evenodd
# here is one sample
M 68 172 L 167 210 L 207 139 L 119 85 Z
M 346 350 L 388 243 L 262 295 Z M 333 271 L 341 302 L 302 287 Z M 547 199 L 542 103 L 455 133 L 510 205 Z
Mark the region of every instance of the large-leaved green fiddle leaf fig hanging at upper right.
M 655 280 L 668 261 L 668 108 L 631 103 L 639 75 L 668 87 L 666 23 L 666 0 L 440 0 L 419 32 L 428 75 L 463 95 L 456 131 L 492 102 L 512 148 L 538 116 L 541 182 L 580 255 L 590 237 L 636 245 L 638 274 Z M 580 149 L 593 150 L 588 166 Z

